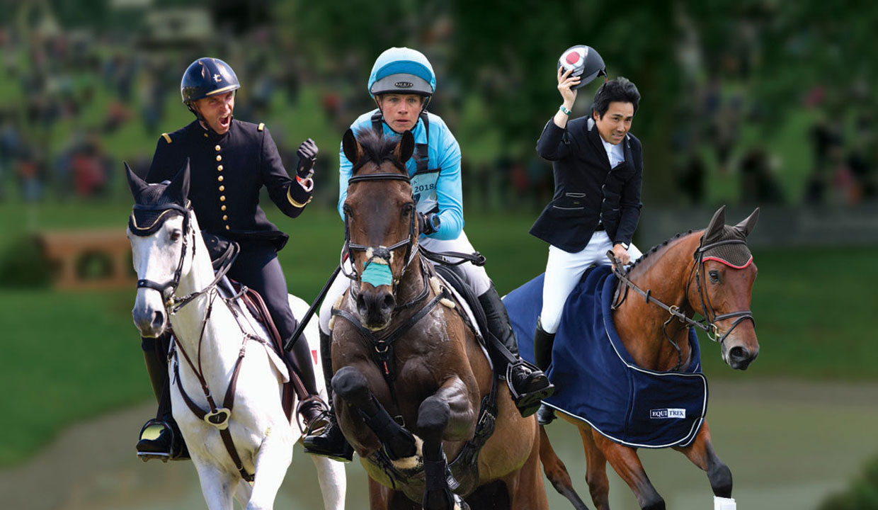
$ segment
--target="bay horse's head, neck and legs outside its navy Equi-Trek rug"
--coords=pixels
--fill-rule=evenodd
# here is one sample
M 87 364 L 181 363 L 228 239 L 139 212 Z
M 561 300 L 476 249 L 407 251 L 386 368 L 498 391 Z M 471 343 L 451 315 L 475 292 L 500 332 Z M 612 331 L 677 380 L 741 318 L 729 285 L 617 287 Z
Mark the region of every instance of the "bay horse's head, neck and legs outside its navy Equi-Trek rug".
M 693 326 L 706 329 L 709 338 L 719 343 L 723 362 L 732 369 L 746 370 L 756 359 L 759 342 L 750 303 L 757 268 L 746 237 L 758 218 L 757 208 L 737 226 L 726 226 L 725 209 L 720 208 L 706 229 L 678 234 L 652 248 L 627 275 L 619 269 L 621 266 L 615 266 L 620 282 L 612 296 L 612 323 L 638 367 L 663 373 L 689 369 L 693 344 L 687 339 L 694 336 L 690 333 Z M 692 320 L 696 313 L 704 320 Z M 694 345 L 697 348 L 697 341 Z M 553 383 L 559 392 L 565 390 L 558 381 Z M 706 413 L 706 392 L 704 399 Z M 599 510 L 609 508 L 607 462 L 629 485 L 642 508 L 665 508 L 665 500 L 646 476 L 636 447 L 611 440 L 580 417 L 565 412 L 560 415 L 579 428 L 587 460 L 588 489 Z M 686 442 L 673 449 L 707 471 L 717 507 L 734 508 L 731 471 L 716 456 L 707 420 L 698 421 L 701 427 L 697 433 L 693 431 Z M 543 427 L 541 437 L 547 477 L 559 492 L 572 492 L 566 468 L 552 450 Z M 568 495 L 568 499 L 577 508 L 585 508 L 578 497 Z

